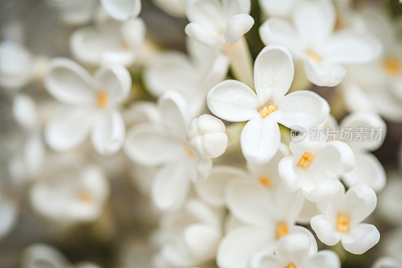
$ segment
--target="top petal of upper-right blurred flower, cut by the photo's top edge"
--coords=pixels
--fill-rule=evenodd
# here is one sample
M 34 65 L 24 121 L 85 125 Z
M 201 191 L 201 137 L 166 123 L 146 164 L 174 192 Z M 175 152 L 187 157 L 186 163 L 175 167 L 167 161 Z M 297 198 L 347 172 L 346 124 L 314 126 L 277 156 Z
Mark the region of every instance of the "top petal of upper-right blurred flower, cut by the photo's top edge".
M 293 10 L 293 23 L 300 39 L 315 47 L 323 44 L 334 30 L 335 7 L 328 0 L 307 0 Z

